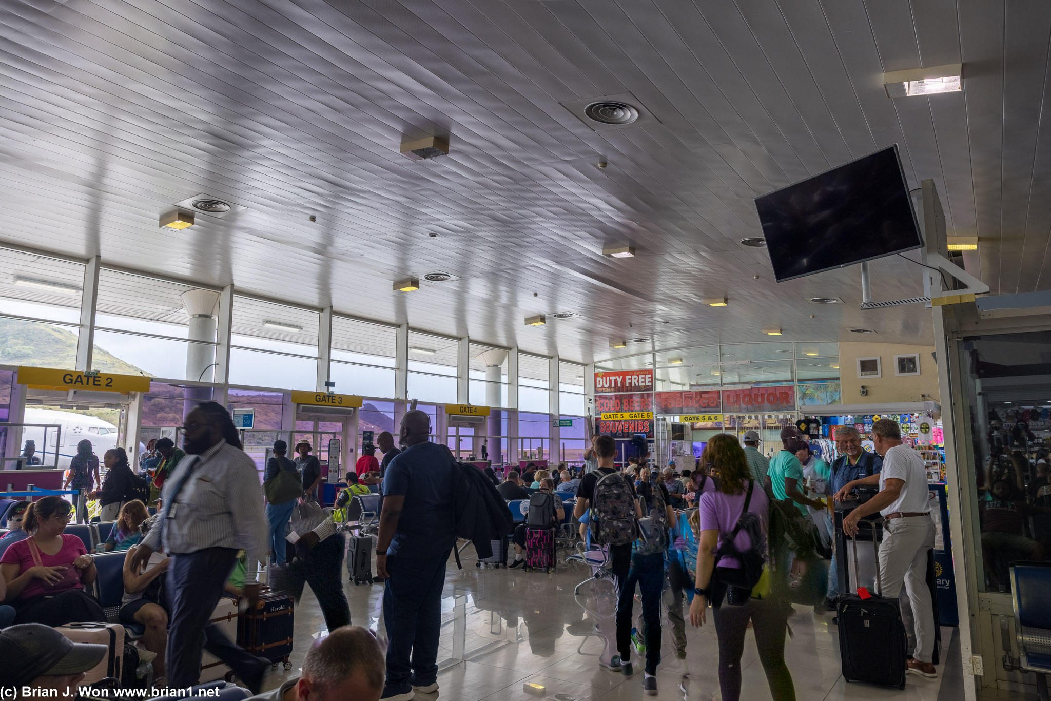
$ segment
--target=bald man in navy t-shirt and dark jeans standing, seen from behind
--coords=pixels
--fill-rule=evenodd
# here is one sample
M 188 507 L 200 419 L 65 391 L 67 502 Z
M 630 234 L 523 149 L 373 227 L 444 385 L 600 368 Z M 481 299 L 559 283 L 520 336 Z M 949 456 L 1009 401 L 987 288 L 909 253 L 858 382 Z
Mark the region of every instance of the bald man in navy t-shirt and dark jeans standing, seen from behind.
M 376 542 L 376 573 L 387 578 L 387 683 L 380 697 L 409 701 L 437 690 L 438 636 L 446 562 L 453 533 L 456 470 L 449 449 L 428 440 L 431 417 L 401 417 L 406 448 L 384 476 L 384 508 Z

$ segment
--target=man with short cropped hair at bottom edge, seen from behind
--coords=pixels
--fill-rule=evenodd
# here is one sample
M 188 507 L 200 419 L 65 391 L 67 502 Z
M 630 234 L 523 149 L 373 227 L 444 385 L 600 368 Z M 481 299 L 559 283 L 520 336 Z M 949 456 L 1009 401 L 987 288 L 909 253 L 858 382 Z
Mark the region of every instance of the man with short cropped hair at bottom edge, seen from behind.
M 368 630 L 344 625 L 310 645 L 303 674 L 248 701 L 377 701 L 384 654 Z

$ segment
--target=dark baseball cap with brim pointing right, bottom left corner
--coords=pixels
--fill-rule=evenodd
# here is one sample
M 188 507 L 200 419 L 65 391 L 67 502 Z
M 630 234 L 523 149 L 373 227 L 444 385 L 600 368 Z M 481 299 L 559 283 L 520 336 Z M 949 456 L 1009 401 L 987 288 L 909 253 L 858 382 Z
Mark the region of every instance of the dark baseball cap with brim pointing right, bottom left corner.
M 19 686 L 37 677 L 77 675 L 94 668 L 109 653 L 107 645 L 73 642 L 42 623 L 21 623 L 0 631 L 0 686 Z

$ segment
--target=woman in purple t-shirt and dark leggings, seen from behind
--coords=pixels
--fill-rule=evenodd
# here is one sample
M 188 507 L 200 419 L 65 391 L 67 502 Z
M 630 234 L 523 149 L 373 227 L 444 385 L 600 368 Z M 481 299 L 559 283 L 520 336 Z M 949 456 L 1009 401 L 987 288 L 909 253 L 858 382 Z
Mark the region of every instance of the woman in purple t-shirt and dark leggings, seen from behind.
M 744 450 L 735 436 L 720 433 L 708 441 L 705 451 L 719 472 L 719 483 L 714 491 L 705 491 L 700 498 L 701 535 L 697 550 L 697 582 L 694 602 L 689 606 L 689 622 L 697 626 L 705 622 L 716 551 L 733 533 L 747 500 L 748 512 L 759 516 L 764 542 L 750 542 L 750 536 L 742 529 L 734 539 L 734 544 L 742 554 L 757 548 L 765 555 L 769 504 L 761 484 L 751 484 L 751 496 L 748 497 L 751 472 Z M 718 564 L 720 570 L 741 568 L 741 563 L 730 557 L 723 557 Z M 786 606 L 776 599 L 747 598 L 747 591 L 743 592 L 743 601 L 738 596 L 742 595 L 741 591 L 733 594 L 735 596 L 727 593 L 724 600 L 713 603 L 712 613 L 719 639 L 719 687 L 723 701 L 738 701 L 741 698 L 741 655 L 744 653 L 744 633 L 749 619 L 755 626 L 759 659 L 766 672 L 774 701 L 795 701 L 796 689 L 785 665 Z

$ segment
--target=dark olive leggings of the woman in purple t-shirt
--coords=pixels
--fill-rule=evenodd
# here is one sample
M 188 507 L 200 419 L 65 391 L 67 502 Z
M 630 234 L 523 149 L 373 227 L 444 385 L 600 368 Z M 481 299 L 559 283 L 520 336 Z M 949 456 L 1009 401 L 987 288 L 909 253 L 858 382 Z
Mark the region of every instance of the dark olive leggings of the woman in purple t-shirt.
M 788 613 L 777 599 L 750 599 L 743 606 L 723 603 L 712 613 L 719 637 L 719 688 L 722 701 L 741 698 L 741 655 L 748 619 L 755 626 L 759 660 L 766 673 L 774 701 L 796 701 L 791 674 L 785 665 L 785 632 Z

